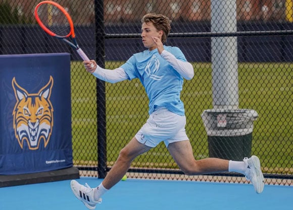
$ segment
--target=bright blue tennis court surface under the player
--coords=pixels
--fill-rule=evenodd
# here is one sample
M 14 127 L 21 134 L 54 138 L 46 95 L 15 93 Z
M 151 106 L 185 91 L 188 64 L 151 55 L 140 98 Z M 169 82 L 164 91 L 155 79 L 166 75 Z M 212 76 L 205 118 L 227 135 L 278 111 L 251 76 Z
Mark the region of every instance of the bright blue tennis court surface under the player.
M 102 179 L 81 177 L 94 187 Z M 70 180 L 0 188 L 0 210 L 86 210 Z M 293 209 L 293 187 L 251 184 L 127 179 L 104 194 L 95 209 L 105 210 L 280 210 Z

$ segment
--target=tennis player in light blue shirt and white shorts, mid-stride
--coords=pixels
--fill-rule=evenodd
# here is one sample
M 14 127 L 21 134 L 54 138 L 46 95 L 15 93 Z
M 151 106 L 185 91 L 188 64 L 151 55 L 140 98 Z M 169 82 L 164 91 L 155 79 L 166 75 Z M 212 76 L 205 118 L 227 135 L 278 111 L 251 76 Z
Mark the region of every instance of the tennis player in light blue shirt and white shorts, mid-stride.
M 149 119 L 120 151 L 117 161 L 99 186 L 90 188 L 87 184 L 71 181 L 74 195 L 87 208 L 94 209 L 97 203 L 101 203 L 102 195 L 122 179 L 132 161 L 160 142 L 165 143 L 186 175 L 238 172 L 252 182 L 257 193 L 261 193 L 264 177 L 258 157 L 252 156 L 243 161 L 194 159 L 185 132 L 184 105 L 180 100 L 183 78 L 192 79 L 193 67 L 178 47 L 163 44 L 171 30 L 171 21 L 166 16 L 146 14 L 141 23 L 141 39 L 146 50 L 133 54 L 114 70 L 101 68 L 94 60 L 84 61 L 84 65 L 87 72 L 110 83 L 138 78 L 149 97 Z

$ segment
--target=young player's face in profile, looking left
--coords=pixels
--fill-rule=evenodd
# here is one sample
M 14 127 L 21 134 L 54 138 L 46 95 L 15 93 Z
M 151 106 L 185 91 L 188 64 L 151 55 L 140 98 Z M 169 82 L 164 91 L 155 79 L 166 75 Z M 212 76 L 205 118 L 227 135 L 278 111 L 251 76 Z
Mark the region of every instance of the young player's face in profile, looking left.
M 152 22 L 142 23 L 141 26 L 141 37 L 142 43 L 149 50 L 153 50 L 157 48 L 152 36 L 158 37 L 162 40 L 163 31 L 158 31 Z

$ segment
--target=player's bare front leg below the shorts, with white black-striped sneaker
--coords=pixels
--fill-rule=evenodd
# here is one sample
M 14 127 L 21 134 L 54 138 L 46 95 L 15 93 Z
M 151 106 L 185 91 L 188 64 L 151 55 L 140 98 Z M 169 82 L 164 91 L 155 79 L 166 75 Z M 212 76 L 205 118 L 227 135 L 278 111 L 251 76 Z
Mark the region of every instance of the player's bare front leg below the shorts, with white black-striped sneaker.
M 137 141 L 135 137 L 120 151 L 119 156 L 112 169 L 103 182 L 96 188 L 90 188 L 87 184 L 81 185 L 77 181 L 71 181 L 71 189 L 74 195 L 89 209 L 94 209 L 97 203 L 102 202 L 101 196 L 119 182 L 127 172 L 131 162 L 138 155 L 147 152 L 148 147 Z

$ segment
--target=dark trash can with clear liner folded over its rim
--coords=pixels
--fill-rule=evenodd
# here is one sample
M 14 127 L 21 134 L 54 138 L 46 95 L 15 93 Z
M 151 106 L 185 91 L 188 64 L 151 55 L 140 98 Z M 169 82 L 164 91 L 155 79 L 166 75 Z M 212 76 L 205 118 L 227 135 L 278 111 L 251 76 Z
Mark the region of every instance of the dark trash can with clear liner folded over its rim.
M 202 114 L 208 134 L 209 156 L 241 161 L 251 156 L 253 122 L 251 109 L 209 109 Z

